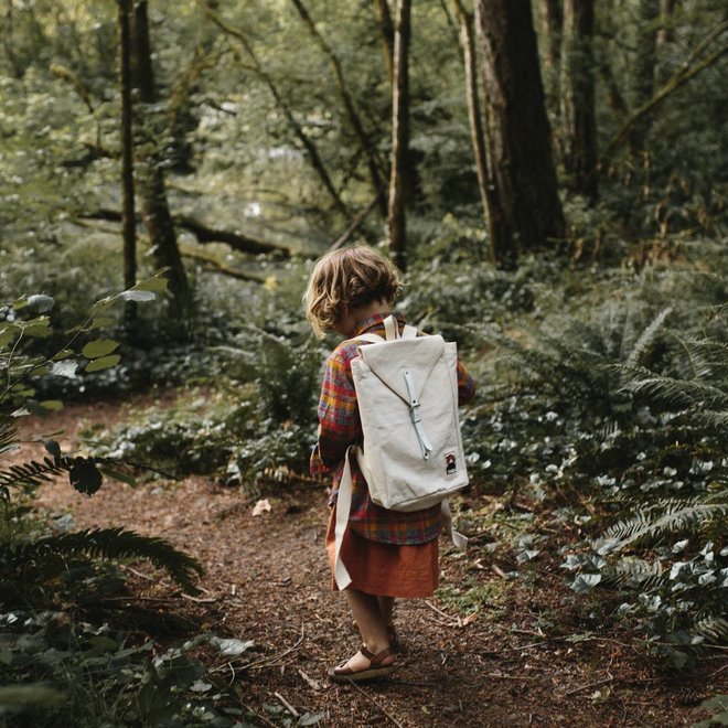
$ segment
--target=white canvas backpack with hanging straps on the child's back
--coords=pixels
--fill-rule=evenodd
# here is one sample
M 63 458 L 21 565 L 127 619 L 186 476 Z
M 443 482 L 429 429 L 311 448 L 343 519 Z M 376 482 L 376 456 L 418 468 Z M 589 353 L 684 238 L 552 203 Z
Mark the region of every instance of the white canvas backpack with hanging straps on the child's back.
M 461 548 L 467 538 L 452 529 L 447 496 L 468 484 L 458 419 L 458 353 L 442 336 L 418 336 L 395 319 L 384 321 L 386 339 L 362 334 L 370 342 L 352 360 L 362 447 L 346 451 L 336 504 L 336 566 L 340 589 L 351 578 L 340 550 L 351 510 L 354 453 L 374 503 L 392 511 L 420 511 L 442 504 L 445 526 Z

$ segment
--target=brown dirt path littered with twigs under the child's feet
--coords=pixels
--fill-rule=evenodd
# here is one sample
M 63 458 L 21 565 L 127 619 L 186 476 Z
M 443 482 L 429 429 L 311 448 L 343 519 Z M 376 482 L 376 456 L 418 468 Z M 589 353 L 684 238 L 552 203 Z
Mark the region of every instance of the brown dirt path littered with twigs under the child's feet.
M 23 438 L 64 429 L 73 439 L 79 427 L 124 421 L 131 406 L 67 406 L 30 422 Z M 558 558 L 532 563 L 527 579 L 513 580 L 488 557 L 459 556 L 445 542 L 441 591 L 398 604 L 398 671 L 376 683 L 333 685 L 326 670 L 355 652 L 358 639 L 344 599 L 330 589 L 325 495 L 281 486 L 268 500 L 270 511 L 254 515 L 237 490 L 199 477 L 135 488 L 111 481 L 93 497 L 65 481 L 39 492 L 42 508 L 69 512 L 78 528 L 162 536 L 204 565 L 196 600 L 147 565 L 127 569 L 137 604 L 184 618 L 178 634 L 152 632 L 158 641 L 211 630 L 255 642 L 223 673 L 237 681 L 253 725 L 307 725 L 320 714 L 321 726 L 667 727 L 704 719 L 700 702 L 728 693 L 726 652 L 708 655 L 697 674 L 675 676 L 629 634 L 585 628 L 585 604 Z M 488 595 L 477 610 L 449 598 L 474 579 Z

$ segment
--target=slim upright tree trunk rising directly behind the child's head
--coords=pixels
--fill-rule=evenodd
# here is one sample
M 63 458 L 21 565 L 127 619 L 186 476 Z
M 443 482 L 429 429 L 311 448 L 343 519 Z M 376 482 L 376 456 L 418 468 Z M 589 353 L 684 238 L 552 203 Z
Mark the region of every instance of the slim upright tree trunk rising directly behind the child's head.
M 392 86 L 392 175 L 387 226 L 395 264 L 407 267 L 406 192 L 409 189 L 409 38 L 411 0 L 397 0 Z

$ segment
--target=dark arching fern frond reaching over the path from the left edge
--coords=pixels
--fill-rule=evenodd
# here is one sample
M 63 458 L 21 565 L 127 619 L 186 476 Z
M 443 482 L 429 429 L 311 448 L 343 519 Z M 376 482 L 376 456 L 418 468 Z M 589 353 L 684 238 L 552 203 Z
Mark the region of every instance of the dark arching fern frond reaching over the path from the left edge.
M 125 528 L 96 528 L 77 533 L 55 534 L 28 543 L 0 544 L 0 574 L 29 577 L 29 566 L 51 559 L 78 556 L 99 559 L 147 559 L 165 570 L 185 591 L 195 593 L 195 575 L 202 575 L 202 565 L 157 536 L 142 536 Z M 39 569 L 42 572 L 42 568 Z M 32 575 L 30 575 L 32 577 Z

